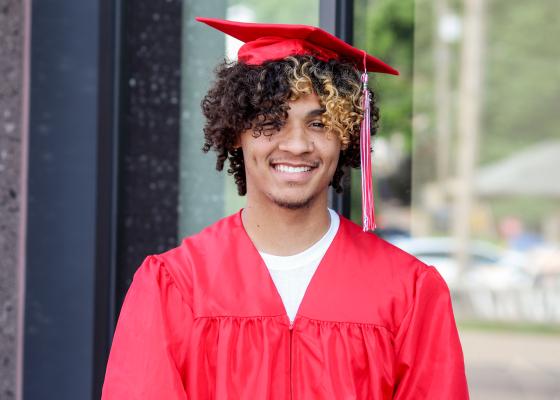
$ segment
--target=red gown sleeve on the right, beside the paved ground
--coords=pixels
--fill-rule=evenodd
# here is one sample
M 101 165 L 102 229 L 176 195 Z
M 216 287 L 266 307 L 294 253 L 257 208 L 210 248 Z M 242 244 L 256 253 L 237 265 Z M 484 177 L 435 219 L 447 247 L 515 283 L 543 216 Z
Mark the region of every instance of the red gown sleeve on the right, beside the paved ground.
M 395 336 L 396 400 L 469 398 L 451 296 L 433 267 L 418 277 L 414 301 Z

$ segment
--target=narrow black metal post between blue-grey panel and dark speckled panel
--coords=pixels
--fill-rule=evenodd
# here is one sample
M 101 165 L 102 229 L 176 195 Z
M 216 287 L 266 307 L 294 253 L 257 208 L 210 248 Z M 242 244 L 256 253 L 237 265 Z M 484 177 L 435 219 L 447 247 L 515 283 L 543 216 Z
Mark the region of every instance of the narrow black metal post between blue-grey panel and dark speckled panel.
M 99 96 L 97 136 L 97 227 L 93 399 L 101 398 L 114 333 L 117 274 L 117 193 L 120 115 L 120 0 L 101 0 L 99 12 Z

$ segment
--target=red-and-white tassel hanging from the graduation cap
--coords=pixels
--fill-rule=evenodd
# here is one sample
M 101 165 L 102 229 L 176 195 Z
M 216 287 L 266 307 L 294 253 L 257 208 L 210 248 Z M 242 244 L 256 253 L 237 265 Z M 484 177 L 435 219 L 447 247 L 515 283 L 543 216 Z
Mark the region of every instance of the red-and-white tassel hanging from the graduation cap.
M 360 157 L 362 161 L 362 225 L 364 232 L 375 230 L 375 205 L 373 203 L 373 183 L 371 175 L 371 121 L 370 121 L 370 95 L 367 89 L 367 70 L 362 74 L 362 108 L 364 118 L 360 126 Z

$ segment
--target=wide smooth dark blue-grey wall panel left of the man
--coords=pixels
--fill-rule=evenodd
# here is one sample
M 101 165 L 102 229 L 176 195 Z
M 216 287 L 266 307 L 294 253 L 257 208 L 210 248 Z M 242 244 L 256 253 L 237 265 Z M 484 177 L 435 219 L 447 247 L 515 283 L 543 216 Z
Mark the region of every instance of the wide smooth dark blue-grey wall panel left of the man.
M 98 2 L 32 5 L 24 398 L 92 385 Z

